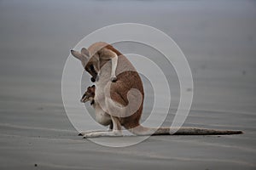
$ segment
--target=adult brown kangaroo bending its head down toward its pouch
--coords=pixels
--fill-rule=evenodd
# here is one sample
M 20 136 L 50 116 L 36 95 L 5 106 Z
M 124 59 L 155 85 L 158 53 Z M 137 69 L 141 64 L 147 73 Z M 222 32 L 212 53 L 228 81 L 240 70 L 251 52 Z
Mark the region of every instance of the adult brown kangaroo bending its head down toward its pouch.
M 113 122 L 112 131 L 82 132 L 84 138 L 101 136 L 122 136 L 121 127 L 135 135 L 222 135 L 240 134 L 241 131 L 214 130 L 197 127 L 143 127 L 140 118 L 143 113 L 143 82 L 131 62 L 106 42 L 96 42 L 81 52 L 71 50 L 79 59 L 84 70 L 96 83 L 94 101 L 100 105 L 96 110 L 97 122 Z M 135 89 L 136 93 L 130 93 Z M 171 133 L 175 132 L 175 133 Z

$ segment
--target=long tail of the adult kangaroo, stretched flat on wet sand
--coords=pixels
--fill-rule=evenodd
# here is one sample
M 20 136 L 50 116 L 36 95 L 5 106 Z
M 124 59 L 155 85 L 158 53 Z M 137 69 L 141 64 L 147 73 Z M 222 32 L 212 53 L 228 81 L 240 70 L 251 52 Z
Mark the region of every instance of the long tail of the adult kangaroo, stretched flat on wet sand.
M 207 129 L 199 127 L 181 127 L 181 128 L 170 128 L 170 127 L 143 127 L 141 125 L 129 129 L 131 133 L 138 136 L 142 135 L 230 135 L 230 134 L 241 134 L 239 130 L 217 130 Z

